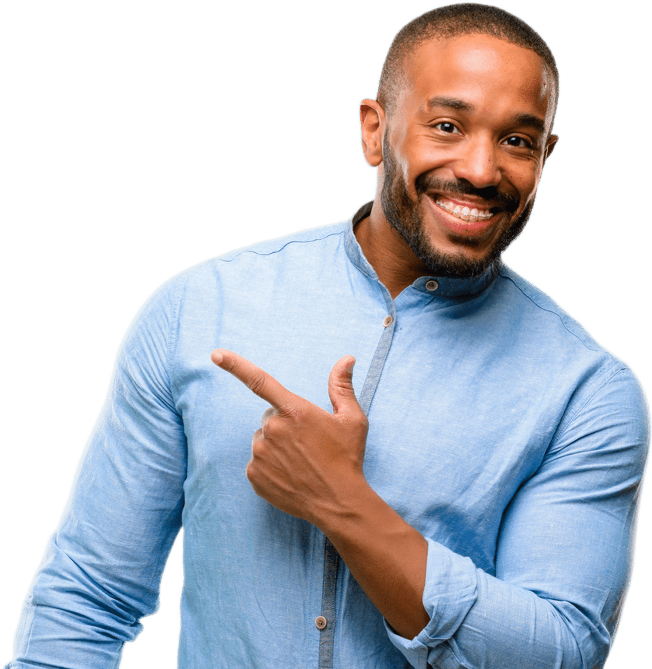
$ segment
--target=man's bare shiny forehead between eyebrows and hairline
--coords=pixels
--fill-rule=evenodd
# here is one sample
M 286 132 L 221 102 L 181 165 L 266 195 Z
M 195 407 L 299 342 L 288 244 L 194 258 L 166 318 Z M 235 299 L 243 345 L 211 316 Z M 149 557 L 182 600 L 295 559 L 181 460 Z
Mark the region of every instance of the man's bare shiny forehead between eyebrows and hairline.
M 537 113 L 546 118 L 546 124 L 554 116 L 554 78 L 544 60 L 490 35 L 426 41 L 407 58 L 405 76 L 409 85 L 403 88 L 399 104 L 408 108 L 423 108 L 439 96 L 479 104 L 479 108 L 490 105 L 514 113 Z

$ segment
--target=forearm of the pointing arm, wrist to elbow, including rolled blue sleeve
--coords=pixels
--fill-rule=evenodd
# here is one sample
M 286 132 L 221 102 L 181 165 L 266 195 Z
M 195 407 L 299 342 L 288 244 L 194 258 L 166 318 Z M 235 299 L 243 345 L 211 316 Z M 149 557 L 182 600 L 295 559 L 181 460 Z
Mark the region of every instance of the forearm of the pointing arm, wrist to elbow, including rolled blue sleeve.
M 603 638 L 574 605 L 548 601 L 429 543 L 366 480 L 340 478 L 337 494 L 315 503 L 310 520 L 395 632 L 413 666 L 532 666 L 576 669 L 605 659 Z M 584 654 L 578 639 L 586 637 Z

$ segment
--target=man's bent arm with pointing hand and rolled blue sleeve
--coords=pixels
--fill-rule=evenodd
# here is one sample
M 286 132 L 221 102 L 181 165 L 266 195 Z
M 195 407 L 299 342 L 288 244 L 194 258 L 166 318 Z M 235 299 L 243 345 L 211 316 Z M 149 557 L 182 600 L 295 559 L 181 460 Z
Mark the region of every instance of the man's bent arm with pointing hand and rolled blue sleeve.
M 351 358 L 330 376 L 332 415 L 229 351 L 215 351 L 213 361 L 272 405 L 247 466 L 255 492 L 324 531 L 413 666 L 603 664 L 629 587 L 627 537 L 636 539 L 635 492 L 649 443 L 649 409 L 629 377 L 595 394 L 516 494 L 493 577 L 426 543 L 364 481 L 366 420 L 350 385 Z M 623 401 L 631 422 L 617 415 L 596 442 L 593 423 L 622 414 Z

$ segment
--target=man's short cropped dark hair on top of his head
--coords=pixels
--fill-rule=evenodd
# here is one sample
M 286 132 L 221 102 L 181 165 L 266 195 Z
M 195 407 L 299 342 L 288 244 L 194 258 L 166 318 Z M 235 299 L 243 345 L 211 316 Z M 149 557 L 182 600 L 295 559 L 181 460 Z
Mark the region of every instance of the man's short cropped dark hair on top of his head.
M 538 54 L 554 76 L 559 99 L 561 73 L 552 47 L 528 21 L 513 11 L 483 2 L 454 2 L 426 9 L 395 33 L 387 46 L 376 85 L 376 100 L 385 113 L 393 112 L 396 98 L 405 85 L 405 60 L 426 41 L 435 37 L 491 35 Z

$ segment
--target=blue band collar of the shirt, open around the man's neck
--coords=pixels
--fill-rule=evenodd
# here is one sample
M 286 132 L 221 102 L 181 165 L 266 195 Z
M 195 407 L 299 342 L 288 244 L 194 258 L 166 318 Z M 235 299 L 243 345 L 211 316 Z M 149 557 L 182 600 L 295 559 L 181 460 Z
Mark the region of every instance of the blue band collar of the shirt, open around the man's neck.
M 380 282 L 374 268 L 372 268 L 369 261 L 364 257 L 362 248 L 360 247 L 360 244 L 358 244 L 358 240 L 353 233 L 354 225 L 369 215 L 372 204 L 373 200 L 368 200 L 362 203 L 351 213 L 348 219 L 346 219 L 344 248 L 346 249 L 346 255 L 349 260 L 356 266 L 356 268 L 358 268 L 358 270 L 360 270 L 360 272 Z M 427 293 L 432 296 L 435 296 L 436 294 L 437 296 L 447 298 L 471 297 L 482 292 L 487 286 L 492 284 L 494 279 L 496 279 L 496 276 L 498 276 L 501 267 L 502 261 L 497 260 L 494 264 L 490 265 L 483 274 L 470 279 L 457 279 L 447 276 L 420 276 L 412 284 L 412 287 L 415 288 L 415 290 L 419 290 L 419 292 Z M 436 290 L 429 290 L 426 287 L 426 284 L 432 280 L 437 282 L 438 287 Z

